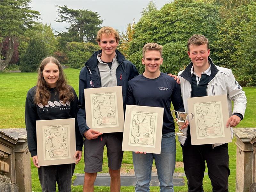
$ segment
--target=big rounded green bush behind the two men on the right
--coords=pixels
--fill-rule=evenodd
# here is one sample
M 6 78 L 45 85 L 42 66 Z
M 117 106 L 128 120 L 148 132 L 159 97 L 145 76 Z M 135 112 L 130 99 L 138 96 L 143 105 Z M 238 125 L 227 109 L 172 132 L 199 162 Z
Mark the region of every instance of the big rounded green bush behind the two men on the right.
M 202 1 L 175 0 L 159 11 L 143 12 L 134 27 L 128 59 L 142 72 L 141 49 L 146 43 L 157 42 L 164 46 L 161 70 L 177 74 L 189 62 L 186 43 L 190 36 L 203 34 L 210 42 L 214 41 L 218 31 L 216 26 L 220 23 L 218 8 L 218 5 Z

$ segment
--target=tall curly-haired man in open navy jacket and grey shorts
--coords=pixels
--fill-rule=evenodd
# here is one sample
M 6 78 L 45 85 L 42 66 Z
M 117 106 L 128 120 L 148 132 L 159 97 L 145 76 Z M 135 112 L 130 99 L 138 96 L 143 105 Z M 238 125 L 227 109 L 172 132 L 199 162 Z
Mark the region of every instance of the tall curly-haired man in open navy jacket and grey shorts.
M 101 50 L 86 61 L 79 76 L 79 102 L 77 121 L 84 139 L 84 188 L 93 191 L 97 172 L 102 171 L 104 146 L 108 151 L 110 191 L 120 191 L 120 168 L 123 159 L 123 133 L 100 133 L 86 125 L 84 89 L 96 87 L 122 86 L 124 110 L 128 81 L 139 75 L 136 67 L 116 50 L 119 35 L 114 28 L 103 27 L 98 31 L 97 42 Z

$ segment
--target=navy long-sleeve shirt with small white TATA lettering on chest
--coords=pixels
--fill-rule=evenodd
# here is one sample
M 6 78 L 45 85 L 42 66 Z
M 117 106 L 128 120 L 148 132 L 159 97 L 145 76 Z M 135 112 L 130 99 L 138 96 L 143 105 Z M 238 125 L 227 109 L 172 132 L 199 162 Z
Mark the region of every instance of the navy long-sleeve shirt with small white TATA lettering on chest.
M 128 82 L 128 105 L 164 108 L 163 134 L 174 132 L 171 102 L 176 111 L 184 112 L 180 86 L 173 77 L 161 72 L 155 79 L 139 75 Z

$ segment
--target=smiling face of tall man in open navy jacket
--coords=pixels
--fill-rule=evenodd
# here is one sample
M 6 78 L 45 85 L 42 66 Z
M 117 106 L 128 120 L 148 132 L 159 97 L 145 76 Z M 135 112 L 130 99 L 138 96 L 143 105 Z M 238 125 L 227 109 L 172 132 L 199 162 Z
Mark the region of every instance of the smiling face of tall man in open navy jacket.
M 98 44 L 102 49 L 103 57 L 115 57 L 118 41 L 116 41 L 116 37 L 114 35 L 107 35 L 103 33 L 100 37 L 100 42 L 98 42 Z

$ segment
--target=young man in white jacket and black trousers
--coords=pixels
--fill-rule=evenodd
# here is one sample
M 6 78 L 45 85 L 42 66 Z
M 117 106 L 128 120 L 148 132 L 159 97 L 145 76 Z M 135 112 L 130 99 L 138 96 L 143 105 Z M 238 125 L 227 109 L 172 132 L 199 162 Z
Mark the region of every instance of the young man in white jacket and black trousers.
M 229 119 L 226 124 L 235 127 L 244 118 L 246 97 L 242 87 L 235 80 L 230 69 L 215 66 L 210 55 L 208 39 L 203 35 L 193 35 L 188 40 L 188 56 L 191 62 L 179 72 L 181 95 L 185 112 L 188 112 L 187 98 L 226 94 Z M 231 100 L 234 101 L 232 111 Z M 179 136 L 182 147 L 184 170 L 188 179 L 189 192 L 202 192 L 205 162 L 212 182 L 213 192 L 228 191 L 228 143 L 191 145 L 190 127 Z M 232 135 L 233 136 L 233 135 Z

